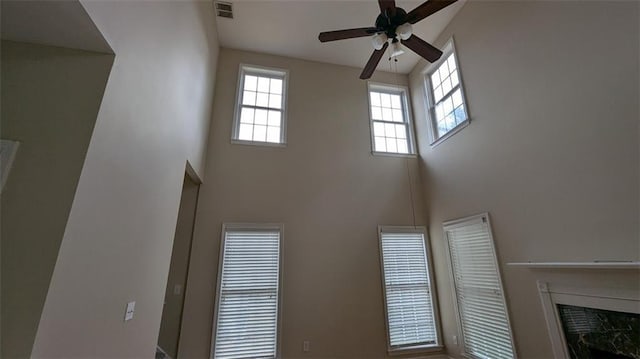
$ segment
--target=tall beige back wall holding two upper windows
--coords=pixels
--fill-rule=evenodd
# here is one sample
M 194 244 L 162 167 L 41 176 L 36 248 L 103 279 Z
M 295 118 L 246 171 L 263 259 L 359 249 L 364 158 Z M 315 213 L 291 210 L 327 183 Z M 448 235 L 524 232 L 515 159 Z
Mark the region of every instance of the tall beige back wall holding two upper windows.
M 285 148 L 230 143 L 240 63 L 289 70 Z M 418 224 L 424 211 L 417 160 L 371 154 L 367 83 L 359 74 L 222 50 L 187 287 L 185 358 L 209 355 L 224 222 L 284 224 L 283 358 L 385 357 L 377 226 L 412 223 L 407 165 Z M 374 80 L 396 77 L 377 73 Z

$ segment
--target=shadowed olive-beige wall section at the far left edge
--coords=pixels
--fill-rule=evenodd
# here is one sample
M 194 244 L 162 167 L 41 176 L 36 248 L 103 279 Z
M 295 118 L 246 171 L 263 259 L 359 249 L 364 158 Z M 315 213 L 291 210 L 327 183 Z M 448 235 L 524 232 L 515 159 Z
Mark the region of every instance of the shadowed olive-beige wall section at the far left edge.
M 2 41 L 2 353 L 28 357 L 113 55 Z

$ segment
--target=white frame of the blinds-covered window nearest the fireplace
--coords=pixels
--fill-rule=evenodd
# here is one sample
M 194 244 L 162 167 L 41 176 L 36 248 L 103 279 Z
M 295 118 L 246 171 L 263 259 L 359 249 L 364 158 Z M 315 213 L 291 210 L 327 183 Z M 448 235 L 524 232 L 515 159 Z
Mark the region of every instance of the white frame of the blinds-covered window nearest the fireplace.
M 454 220 L 449 220 L 443 223 L 443 234 L 444 234 L 444 239 L 446 241 L 445 247 L 446 247 L 446 251 L 447 251 L 447 258 L 448 258 L 448 262 L 449 262 L 449 278 L 450 278 L 450 283 L 451 283 L 451 291 L 453 293 L 453 306 L 454 306 L 454 310 L 456 312 L 456 322 L 457 322 L 457 328 L 458 328 L 458 338 L 459 338 L 459 342 L 460 342 L 460 348 L 462 349 L 462 355 L 465 358 L 477 358 L 476 356 L 470 354 L 470 353 L 466 353 L 466 348 L 465 348 L 465 338 L 464 338 L 464 333 L 463 333 L 463 323 L 462 323 L 462 316 L 461 316 L 461 312 L 460 312 L 460 306 L 458 304 L 458 292 L 456 290 L 456 282 L 455 282 L 455 277 L 456 277 L 456 273 L 455 273 L 455 268 L 453 265 L 453 257 L 451 254 L 451 249 L 449 246 L 449 238 L 447 235 L 447 231 L 451 230 L 451 229 L 455 229 L 455 228 L 460 228 L 460 227 L 464 227 L 467 225 L 472 225 L 475 223 L 479 223 L 479 222 L 484 222 L 486 223 L 487 227 L 488 227 L 488 236 L 489 236 L 489 242 L 491 243 L 491 249 L 493 252 L 493 260 L 495 261 L 495 265 L 496 265 L 496 272 L 497 272 L 497 279 L 498 279 L 498 283 L 500 285 L 500 292 L 501 292 L 501 298 L 502 298 L 502 302 L 504 304 L 504 310 L 505 310 L 505 317 L 506 317 L 506 321 L 507 321 L 507 327 L 508 327 L 508 331 L 509 331 L 509 336 L 510 336 L 510 343 L 511 343 L 511 349 L 513 352 L 513 358 L 516 359 L 518 357 L 517 352 L 516 352 L 516 346 L 515 346 L 515 342 L 513 341 L 513 330 L 512 330 L 512 326 L 511 326 L 511 319 L 510 319 L 510 311 L 509 311 L 509 307 L 507 305 L 507 301 L 506 301 L 506 296 L 505 296 L 505 291 L 504 291 L 504 282 L 502 281 L 502 276 L 501 276 L 501 271 L 500 271 L 500 265 L 498 262 L 498 256 L 496 254 L 496 249 L 495 249 L 495 242 L 493 239 L 493 231 L 491 230 L 491 221 L 489 219 L 489 213 L 485 212 L 485 213 L 480 213 L 477 215 L 473 215 L 473 216 L 469 216 L 469 217 L 464 217 L 464 218 L 459 218 L 459 219 L 454 219 Z

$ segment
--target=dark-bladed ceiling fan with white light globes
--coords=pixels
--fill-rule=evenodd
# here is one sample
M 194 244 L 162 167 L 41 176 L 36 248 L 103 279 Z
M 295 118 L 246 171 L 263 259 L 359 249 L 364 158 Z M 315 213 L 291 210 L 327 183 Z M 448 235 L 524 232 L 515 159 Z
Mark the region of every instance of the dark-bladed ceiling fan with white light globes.
M 387 47 L 389 47 L 389 42 L 391 42 L 393 46 L 391 57 L 395 57 L 403 52 L 398 44 L 401 42 L 427 61 L 435 62 L 442 56 L 442 51 L 416 35 L 413 35 L 411 25 L 444 9 L 456 1 L 457 0 L 428 0 L 407 13 L 404 9 L 396 7 L 395 0 L 378 0 L 380 15 L 378 15 L 376 19 L 375 27 L 325 31 L 318 35 L 318 39 L 320 42 L 327 42 L 372 36 L 371 40 L 375 50 L 364 66 L 362 74 L 360 74 L 360 78 L 363 80 L 371 77 L 382 55 L 384 55 Z

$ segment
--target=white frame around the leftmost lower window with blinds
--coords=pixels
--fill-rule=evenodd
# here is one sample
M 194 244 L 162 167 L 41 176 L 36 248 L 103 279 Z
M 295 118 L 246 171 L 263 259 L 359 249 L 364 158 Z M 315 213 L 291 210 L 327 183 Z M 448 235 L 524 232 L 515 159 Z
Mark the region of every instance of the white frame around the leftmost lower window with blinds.
M 222 264 L 224 259 L 224 248 L 227 231 L 274 231 L 280 234 L 280 250 L 278 255 L 278 299 L 277 299 L 277 314 L 276 314 L 276 348 L 275 358 L 281 357 L 281 343 L 282 343 L 282 252 L 284 242 L 284 225 L 281 223 L 223 223 L 222 233 L 220 239 L 220 253 L 218 258 L 218 278 L 216 283 L 216 298 L 215 307 L 213 313 L 213 329 L 211 332 L 211 348 L 209 358 L 215 359 L 215 345 L 216 345 L 216 332 L 218 327 L 218 311 L 220 308 L 221 299 L 221 285 L 222 285 Z

